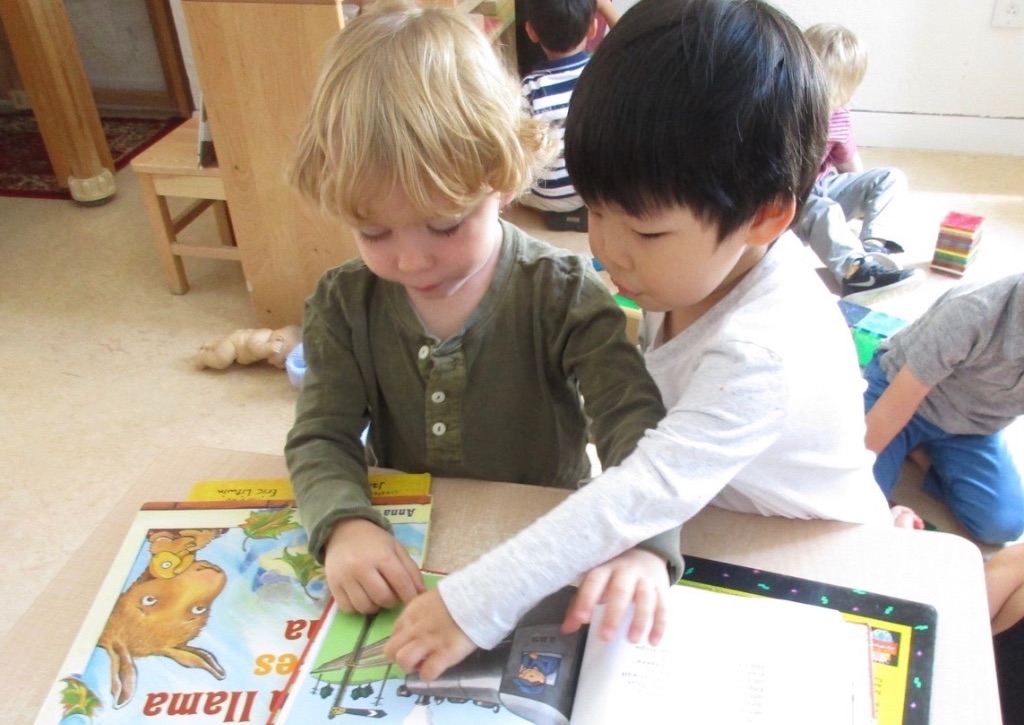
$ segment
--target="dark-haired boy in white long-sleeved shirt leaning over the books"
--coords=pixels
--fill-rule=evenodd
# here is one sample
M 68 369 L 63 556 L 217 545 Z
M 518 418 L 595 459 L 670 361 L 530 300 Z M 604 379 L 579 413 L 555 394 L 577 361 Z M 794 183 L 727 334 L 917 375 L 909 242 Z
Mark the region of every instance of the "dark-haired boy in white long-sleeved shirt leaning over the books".
M 891 526 L 839 307 L 787 232 L 828 118 L 800 29 L 763 0 L 640 0 L 581 76 L 566 158 L 590 244 L 644 308 L 668 415 L 636 451 L 418 596 L 387 652 L 426 680 L 583 577 L 562 625 L 656 644 L 673 581 L 637 542 L 714 504 Z M 602 563 L 604 562 L 604 563 Z M 677 623 L 677 626 L 680 626 Z

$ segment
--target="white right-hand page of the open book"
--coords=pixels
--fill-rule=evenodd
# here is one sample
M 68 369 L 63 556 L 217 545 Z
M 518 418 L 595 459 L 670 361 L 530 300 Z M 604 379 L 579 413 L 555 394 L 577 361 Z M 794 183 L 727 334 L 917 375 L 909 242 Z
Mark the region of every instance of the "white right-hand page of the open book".
M 657 647 L 626 641 L 625 627 L 602 642 L 591 627 L 572 723 L 852 722 L 853 655 L 839 612 L 688 586 L 673 587 L 670 602 Z

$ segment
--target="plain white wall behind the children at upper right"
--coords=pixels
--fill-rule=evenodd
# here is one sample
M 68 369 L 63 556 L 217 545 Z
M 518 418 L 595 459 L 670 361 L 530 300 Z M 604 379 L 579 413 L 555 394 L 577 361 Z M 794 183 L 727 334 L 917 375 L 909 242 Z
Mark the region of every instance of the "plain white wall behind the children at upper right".
M 1024 156 L 1024 28 L 992 28 L 994 0 L 773 1 L 867 46 L 851 102 L 862 145 Z

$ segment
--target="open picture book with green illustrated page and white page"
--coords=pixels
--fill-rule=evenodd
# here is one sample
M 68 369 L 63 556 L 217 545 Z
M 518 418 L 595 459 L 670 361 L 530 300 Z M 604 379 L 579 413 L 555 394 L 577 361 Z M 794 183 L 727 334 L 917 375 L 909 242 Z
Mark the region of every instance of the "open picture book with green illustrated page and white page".
M 548 597 L 498 647 L 430 683 L 384 656 L 396 612 L 331 608 L 272 722 L 651 725 L 682 713 L 730 725 L 873 722 L 867 628 L 837 611 L 677 586 L 666 638 L 651 647 L 603 642 L 596 628 L 562 634 L 572 594 Z

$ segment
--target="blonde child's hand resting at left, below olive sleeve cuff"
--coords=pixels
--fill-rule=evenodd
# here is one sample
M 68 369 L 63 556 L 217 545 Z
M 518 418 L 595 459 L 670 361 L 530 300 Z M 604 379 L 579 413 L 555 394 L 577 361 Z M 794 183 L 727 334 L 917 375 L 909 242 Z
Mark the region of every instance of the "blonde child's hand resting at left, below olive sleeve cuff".
M 338 608 L 346 612 L 390 609 L 426 589 L 401 544 L 365 518 L 335 525 L 324 548 L 324 571 Z

